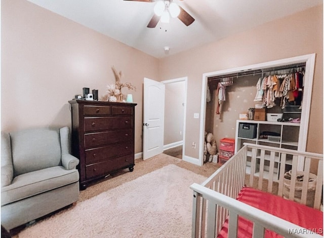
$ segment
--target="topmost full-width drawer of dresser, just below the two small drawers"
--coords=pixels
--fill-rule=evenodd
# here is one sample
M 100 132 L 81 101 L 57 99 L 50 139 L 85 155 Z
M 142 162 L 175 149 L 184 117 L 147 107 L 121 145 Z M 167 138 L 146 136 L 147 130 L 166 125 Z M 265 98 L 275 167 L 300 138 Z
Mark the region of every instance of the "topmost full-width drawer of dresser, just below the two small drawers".
M 133 117 L 86 117 L 85 132 L 133 128 Z

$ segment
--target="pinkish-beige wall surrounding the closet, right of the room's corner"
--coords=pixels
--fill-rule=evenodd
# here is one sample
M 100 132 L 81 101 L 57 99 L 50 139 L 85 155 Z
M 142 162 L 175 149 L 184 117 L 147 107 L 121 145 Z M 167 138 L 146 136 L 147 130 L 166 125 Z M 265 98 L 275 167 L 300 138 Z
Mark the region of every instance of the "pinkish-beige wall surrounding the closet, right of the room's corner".
M 323 94 L 322 6 L 229 36 L 209 45 L 160 60 L 163 79 L 188 76 L 185 154 L 198 157 L 201 82 L 203 73 L 316 53 L 307 151 L 322 152 Z M 197 146 L 198 148 L 198 146 Z

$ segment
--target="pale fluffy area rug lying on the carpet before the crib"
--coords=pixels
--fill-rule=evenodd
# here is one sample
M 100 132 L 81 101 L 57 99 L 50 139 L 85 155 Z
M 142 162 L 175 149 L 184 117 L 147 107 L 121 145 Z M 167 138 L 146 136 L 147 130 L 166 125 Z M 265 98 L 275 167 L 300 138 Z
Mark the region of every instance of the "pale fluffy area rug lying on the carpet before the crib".
M 19 237 L 190 237 L 189 186 L 205 179 L 172 163 L 37 222 Z

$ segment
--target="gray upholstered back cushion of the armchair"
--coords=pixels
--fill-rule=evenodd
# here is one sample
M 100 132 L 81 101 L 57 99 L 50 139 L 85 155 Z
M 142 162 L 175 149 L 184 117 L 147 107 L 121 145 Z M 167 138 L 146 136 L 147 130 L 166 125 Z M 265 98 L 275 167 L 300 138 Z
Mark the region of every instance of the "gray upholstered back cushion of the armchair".
M 14 177 L 61 165 L 58 129 L 28 129 L 10 133 Z

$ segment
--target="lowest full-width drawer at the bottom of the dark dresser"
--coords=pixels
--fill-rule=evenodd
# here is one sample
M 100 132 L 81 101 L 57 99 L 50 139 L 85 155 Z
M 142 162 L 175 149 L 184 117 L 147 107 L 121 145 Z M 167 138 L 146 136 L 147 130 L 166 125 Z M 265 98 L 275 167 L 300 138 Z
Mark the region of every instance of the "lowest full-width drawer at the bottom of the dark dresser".
M 86 178 L 90 179 L 93 177 L 103 176 L 109 174 L 112 171 L 126 168 L 134 165 L 134 154 L 129 154 L 111 160 L 98 162 L 86 166 Z

